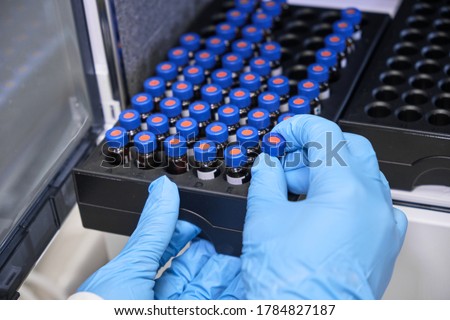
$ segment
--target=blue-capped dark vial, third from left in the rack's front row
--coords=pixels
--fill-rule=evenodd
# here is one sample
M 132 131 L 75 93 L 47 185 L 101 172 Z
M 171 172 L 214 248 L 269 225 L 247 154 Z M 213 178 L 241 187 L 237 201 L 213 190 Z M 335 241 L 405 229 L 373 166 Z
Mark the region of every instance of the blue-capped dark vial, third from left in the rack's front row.
M 164 140 L 164 152 L 167 157 L 166 171 L 170 174 L 182 174 L 188 171 L 186 139 L 172 135 Z

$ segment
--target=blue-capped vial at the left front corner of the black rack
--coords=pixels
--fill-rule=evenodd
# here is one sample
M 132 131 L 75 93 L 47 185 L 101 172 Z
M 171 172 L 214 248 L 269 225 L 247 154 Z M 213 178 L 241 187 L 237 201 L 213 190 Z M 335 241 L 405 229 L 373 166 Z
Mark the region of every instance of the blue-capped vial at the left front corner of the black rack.
M 124 128 L 114 127 L 106 131 L 105 159 L 111 165 L 119 166 L 128 163 L 128 134 Z

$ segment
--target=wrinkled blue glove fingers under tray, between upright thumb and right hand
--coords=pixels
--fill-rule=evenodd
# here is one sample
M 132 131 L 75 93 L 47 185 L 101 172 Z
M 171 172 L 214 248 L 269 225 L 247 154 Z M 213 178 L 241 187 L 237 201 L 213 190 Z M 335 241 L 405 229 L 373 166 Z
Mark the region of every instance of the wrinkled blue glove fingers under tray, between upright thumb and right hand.
M 210 242 L 197 238 L 156 280 L 155 298 L 244 299 L 240 269 L 239 258 L 218 254 Z

